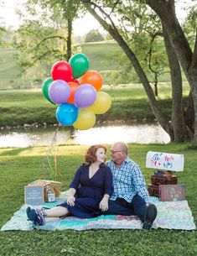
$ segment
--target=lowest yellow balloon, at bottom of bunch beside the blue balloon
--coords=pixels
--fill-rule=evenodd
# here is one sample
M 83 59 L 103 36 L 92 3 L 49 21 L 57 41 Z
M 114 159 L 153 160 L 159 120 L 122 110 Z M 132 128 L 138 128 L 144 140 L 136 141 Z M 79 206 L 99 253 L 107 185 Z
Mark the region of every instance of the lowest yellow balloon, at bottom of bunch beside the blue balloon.
M 73 123 L 74 128 L 79 130 L 87 130 L 92 128 L 96 123 L 96 115 L 90 109 L 80 109 L 79 116 Z

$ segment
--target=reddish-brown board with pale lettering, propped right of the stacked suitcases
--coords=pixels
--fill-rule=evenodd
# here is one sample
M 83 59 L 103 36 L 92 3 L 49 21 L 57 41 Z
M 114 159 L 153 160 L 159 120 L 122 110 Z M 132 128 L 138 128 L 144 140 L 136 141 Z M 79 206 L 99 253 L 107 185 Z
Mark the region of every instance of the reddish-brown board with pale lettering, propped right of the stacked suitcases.
M 160 201 L 185 200 L 185 185 L 159 185 Z

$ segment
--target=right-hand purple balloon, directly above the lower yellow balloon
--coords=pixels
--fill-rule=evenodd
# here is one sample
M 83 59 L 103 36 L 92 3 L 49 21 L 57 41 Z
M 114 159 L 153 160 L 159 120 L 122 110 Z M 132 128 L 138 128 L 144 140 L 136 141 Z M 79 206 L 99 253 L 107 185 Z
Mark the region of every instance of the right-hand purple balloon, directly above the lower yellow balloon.
M 75 106 L 78 108 L 90 107 L 96 101 L 96 89 L 89 84 L 80 85 L 75 91 Z

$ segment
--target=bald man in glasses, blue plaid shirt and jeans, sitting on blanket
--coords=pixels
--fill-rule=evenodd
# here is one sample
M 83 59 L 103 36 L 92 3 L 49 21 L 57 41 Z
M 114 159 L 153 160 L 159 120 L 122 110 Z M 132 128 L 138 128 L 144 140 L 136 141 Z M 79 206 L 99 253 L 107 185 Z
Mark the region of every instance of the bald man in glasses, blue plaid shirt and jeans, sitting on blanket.
M 117 142 L 111 146 L 111 168 L 114 191 L 106 214 L 137 215 L 144 229 L 150 229 L 157 208 L 149 203 L 146 183 L 139 166 L 127 156 L 127 145 Z

